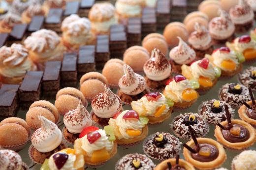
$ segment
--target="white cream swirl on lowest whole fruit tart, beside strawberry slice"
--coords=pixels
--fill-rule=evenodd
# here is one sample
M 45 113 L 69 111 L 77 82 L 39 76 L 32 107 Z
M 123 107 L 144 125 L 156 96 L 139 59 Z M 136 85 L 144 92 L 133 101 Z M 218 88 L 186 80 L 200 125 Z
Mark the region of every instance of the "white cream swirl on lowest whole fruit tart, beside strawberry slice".
M 86 151 L 86 154 L 88 156 L 92 156 L 93 152 L 96 150 L 100 150 L 103 148 L 106 148 L 106 150 L 109 152 L 113 149 L 114 147 L 114 142 L 108 141 L 108 137 L 106 135 L 106 132 L 102 129 L 97 130 L 97 132 L 100 134 L 100 138 L 94 142 L 90 143 L 87 139 L 87 135 L 85 135 L 81 140 L 82 140 L 82 149 Z

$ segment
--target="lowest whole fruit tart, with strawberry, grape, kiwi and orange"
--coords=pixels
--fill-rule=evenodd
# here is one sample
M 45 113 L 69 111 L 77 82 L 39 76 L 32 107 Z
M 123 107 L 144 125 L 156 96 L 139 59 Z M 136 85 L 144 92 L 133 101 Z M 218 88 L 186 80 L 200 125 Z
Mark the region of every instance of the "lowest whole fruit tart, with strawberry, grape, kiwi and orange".
M 117 143 L 110 126 L 105 126 L 104 130 L 89 126 L 81 134 L 75 141 L 74 149 L 75 154 L 84 155 L 87 166 L 102 165 L 117 153 Z

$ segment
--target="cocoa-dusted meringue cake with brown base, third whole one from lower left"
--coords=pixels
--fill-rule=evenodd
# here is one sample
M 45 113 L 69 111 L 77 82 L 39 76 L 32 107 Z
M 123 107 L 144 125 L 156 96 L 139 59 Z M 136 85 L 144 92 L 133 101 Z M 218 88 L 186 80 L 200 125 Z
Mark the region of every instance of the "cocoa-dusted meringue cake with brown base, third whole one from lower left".
M 122 112 L 122 101 L 107 85 L 105 91 L 95 96 L 92 101 L 92 119 L 100 126 L 108 125 L 108 121 L 116 113 Z

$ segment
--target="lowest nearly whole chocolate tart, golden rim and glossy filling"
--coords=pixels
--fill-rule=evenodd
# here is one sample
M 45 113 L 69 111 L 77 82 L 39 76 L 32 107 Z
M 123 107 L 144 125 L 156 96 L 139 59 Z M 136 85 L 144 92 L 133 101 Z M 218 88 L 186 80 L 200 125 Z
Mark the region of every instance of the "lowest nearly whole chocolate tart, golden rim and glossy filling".
M 183 149 L 183 155 L 189 163 L 191 163 L 195 168 L 200 170 L 211 170 L 220 167 L 226 160 L 226 153 L 223 148 L 223 146 L 209 138 L 196 138 L 199 147 L 210 147 L 213 149 L 211 151 L 210 159 L 201 159 L 201 156 L 198 156 L 196 154 L 193 154 L 191 151 L 189 151 L 187 148 L 184 147 Z M 195 148 L 195 144 L 193 140 L 186 143 L 192 148 Z M 206 162 L 207 161 L 207 162 Z

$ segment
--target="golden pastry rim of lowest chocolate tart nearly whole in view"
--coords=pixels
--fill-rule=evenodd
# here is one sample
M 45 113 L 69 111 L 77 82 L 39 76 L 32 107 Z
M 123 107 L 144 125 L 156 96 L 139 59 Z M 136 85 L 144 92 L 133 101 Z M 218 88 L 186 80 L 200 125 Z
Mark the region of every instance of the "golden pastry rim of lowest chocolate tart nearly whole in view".
M 225 162 L 226 153 L 225 153 L 224 147 L 220 143 L 218 143 L 212 139 L 209 139 L 209 138 L 196 138 L 196 140 L 197 140 L 198 144 L 207 143 L 207 144 L 211 144 L 211 145 L 215 146 L 217 148 L 217 150 L 219 151 L 219 155 L 213 161 L 200 162 L 200 161 L 193 159 L 191 156 L 191 152 L 187 148 L 184 148 L 183 155 L 184 155 L 186 161 L 191 163 L 195 168 L 200 169 L 200 170 L 212 170 L 214 168 L 220 167 Z M 186 144 L 188 144 L 192 148 L 195 146 L 193 140 L 187 142 Z

